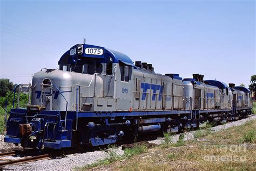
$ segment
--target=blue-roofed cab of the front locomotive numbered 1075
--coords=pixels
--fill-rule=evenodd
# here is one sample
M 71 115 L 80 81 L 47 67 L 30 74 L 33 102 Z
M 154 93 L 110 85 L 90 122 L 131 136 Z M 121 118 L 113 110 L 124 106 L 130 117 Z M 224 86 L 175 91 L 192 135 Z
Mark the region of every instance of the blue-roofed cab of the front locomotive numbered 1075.
M 121 106 L 117 110 L 130 109 L 130 101 L 126 99 L 129 99 L 131 95 L 129 89 L 133 84 L 131 80 L 133 63 L 125 54 L 99 46 L 78 44 L 63 54 L 58 65 L 59 70 L 93 75 L 102 80 L 103 90 L 97 92 L 100 95 L 81 97 L 80 110 L 113 111 L 117 109 L 116 106 Z M 77 86 L 82 93 L 88 91 L 86 84 Z M 97 82 L 95 86 L 98 86 Z M 93 89 L 95 88 L 89 91 L 93 91 Z

